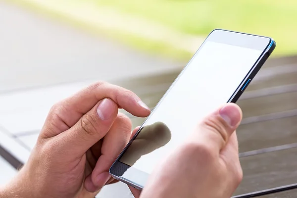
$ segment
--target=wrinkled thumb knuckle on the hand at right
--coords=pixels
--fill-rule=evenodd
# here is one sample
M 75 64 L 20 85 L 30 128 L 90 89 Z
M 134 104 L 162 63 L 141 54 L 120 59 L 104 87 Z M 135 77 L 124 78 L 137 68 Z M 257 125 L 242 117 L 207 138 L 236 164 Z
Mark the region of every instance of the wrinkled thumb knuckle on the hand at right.
M 213 132 L 214 134 L 219 135 L 224 142 L 227 142 L 228 140 L 228 133 L 226 130 L 227 126 L 218 117 L 211 116 L 205 119 L 202 122 L 202 128 L 209 129 L 210 132 Z

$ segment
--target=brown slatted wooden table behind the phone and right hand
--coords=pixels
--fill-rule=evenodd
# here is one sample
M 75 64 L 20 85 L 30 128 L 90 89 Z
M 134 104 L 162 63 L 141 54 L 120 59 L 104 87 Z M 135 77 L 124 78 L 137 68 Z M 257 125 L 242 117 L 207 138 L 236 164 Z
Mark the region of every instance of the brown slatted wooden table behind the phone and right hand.
M 174 71 L 120 84 L 152 108 L 178 74 Z M 237 130 L 244 179 L 234 196 L 255 197 L 262 192 L 269 195 L 260 198 L 296 197 L 292 184 L 297 183 L 297 57 L 267 61 L 237 103 L 244 113 Z M 144 121 L 131 119 L 134 127 Z M 284 186 L 286 191 L 274 193 Z

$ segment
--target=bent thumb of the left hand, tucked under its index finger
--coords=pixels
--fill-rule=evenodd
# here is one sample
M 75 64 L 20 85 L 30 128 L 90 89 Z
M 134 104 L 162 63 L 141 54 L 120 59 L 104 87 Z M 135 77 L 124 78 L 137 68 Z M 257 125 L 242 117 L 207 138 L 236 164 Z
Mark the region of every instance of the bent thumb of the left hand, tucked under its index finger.
M 113 100 L 100 100 L 73 127 L 60 134 L 66 140 L 63 147 L 72 148 L 73 154 L 85 153 L 107 134 L 117 114 L 118 106 Z

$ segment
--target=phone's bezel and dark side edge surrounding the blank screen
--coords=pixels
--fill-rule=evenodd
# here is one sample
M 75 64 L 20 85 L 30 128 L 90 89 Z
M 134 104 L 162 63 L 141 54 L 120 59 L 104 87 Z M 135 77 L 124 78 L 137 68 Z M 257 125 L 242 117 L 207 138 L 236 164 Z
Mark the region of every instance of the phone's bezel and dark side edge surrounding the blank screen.
M 260 70 L 260 68 L 264 64 L 264 62 L 267 60 L 267 58 L 270 56 L 270 54 L 276 47 L 276 43 L 274 42 L 274 40 L 272 38 L 258 36 L 258 35 L 252 35 L 252 34 L 246 34 L 246 33 L 240 33 L 240 32 L 234 32 L 234 31 L 228 31 L 228 30 L 222 30 L 222 29 L 213 30 L 207 36 L 207 38 L 202 43 L 200 48 L 205 44 L 206 41 L 229 44 L 229 45 L 245 47 L 245 48 L 250 48 L 250 49 L 263 50 L 261 55 L 258 57 L 257 61 L 255 62 L 255 64 L 251 67 L 251 69 L 247 73 L 246 77 L 243 79 L 243 81 L 240 83 L 240 85 L 238 86 L 236 91 L 233 93 L 233 95 L 227 101 L 227 102 L 233 102 L 233 103 L 235 103 L 240 98 L 242 93 L 247 88 L 248 84 L 252 81 L 254 76 L 257 74 L 257 72 Z M 266 47 L 264 47 L 264 46 L 266 46 Z M 264 47 L 264 49 L 263 49 L 263 47 Z M 187 65 L 192 61 L 192 59 L 198 53 L 199 49 L 193 55 L 193 57 L 190 59 L 190 61 L 186 64 L 186 66 L 183 68 L 183 70 L 181 71 L 179 76 L 182 75 L 183 71 L 187 68 Z M 175 79 L 175 81 L 172 83 L 172 85 L 174 85 L 174 83 L 177 81 L 179 76 Z M 167 92 L 164 94 L 164 96 L 166 96 L 169 91 L 170 91 L 170 88 L 167 90 Z M 162 97 L 162 99 L 164 98 L 164 96 Z M 162 99 L 160 99 L 160 101 Z M 160 101 L 157 103 L 156 107 L 158 106 Z M 152 113 L 154 112 L 154 109 L 151 111 Z M 148 118 L 152 115 L 152 113 L 148 116 Z M 144 121 L 144 123 L 146 123 L 147 119 Z M 143 123 L 143 125 L 144 125 L 144 123 Z M 112 164 L 111 168 L 109 169 L 109 173 L 111 174 L 112 177 L 114 177 L 115 179 L 120 180 L 126 184 L 129 184 L 137 189 L 140 189 L 140 190 L 143 189 L 143 187 L 144 187 L 144 184 L 141 184 L 141 183 L 142 183 L 142 181 L 147 179 L 148 173 L 138 170 L 138 169 L 136 169 L 132 166 L 129 166 L 125 163 L 122 163 L 119 160 L 120 160 L 121 156 L 123 155 L 123 153 L 127 150 L 127 148 L 132 144 L 132 142 L 135 140 L 135 138 L 141 132 L 143 125 L 138 130 L 138 132 L 135 134 L 135 136 L 131 139 L 131 141 L 128 143 L 128 145 L 119 154 L 116 161 Z M 133 181 L 131 181 L 131 179 L 127 179 L 127 178 L 123 177 L 123 174 L 128 169 L 129 169 L 129 171 L 132 171 L 134 175 L 137 174 L 137 178 L 133 178 Z M 135 180 L 139 180 L 139 181 L 135 182 Z M 241 198 L 241 197 L 237 197 L 237 198 Z

